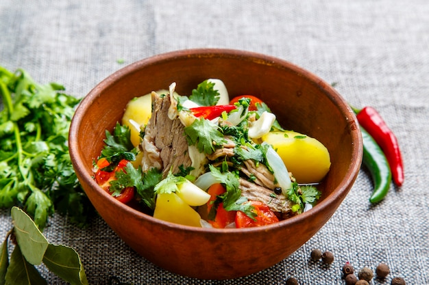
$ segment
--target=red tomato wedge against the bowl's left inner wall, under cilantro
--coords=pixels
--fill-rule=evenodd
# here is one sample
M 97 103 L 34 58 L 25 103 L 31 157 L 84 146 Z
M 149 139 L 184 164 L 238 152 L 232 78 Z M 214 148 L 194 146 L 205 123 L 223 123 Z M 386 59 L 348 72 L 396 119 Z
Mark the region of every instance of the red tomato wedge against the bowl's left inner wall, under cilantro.
M 123 169 L 129 161 L 123 159 L 119 161 L 118 166 L 114 168 L 112 172 L 106 172 L 101 169 L 104 167 L 108 167 L 110 163 L 107 159 L 99 159 L 97 161 L 97 172 L 95 172 L 95 181 L 101 188 L 110 193 L 110 181 L 115 180 L 115 174 Z M 114 196 L 119 202 L 123 202 L 123 204 L 127 204 L 134 198 L 134 187 L 127 187 L 121 191 L 121 193 L 117 196 Z

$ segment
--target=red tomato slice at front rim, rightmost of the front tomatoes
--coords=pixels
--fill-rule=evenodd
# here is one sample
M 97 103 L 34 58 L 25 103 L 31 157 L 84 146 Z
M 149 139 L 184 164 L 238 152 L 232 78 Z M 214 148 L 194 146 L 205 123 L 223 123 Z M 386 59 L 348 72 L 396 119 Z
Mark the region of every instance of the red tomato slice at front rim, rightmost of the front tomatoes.
M 278 217 L 271 211 L 269 206 L 258 201 L 249 201 L 254 206 L 254 213 L 256 213 L 256 221 L 248 217 L 245 213 L 237 211 L 235 217 L 236 228 L 252 228 L 270 225 L 271 223 L 277 223 Z

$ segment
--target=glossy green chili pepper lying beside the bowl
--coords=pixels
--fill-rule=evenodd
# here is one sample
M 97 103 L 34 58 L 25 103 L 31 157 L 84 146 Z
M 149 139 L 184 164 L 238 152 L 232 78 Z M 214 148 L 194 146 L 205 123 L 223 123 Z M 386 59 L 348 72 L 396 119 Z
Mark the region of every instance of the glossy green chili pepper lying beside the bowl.
M 383 200 L 389 191 L 392 173 L 384 152 L 376 141 L 360 126 L 363 140 L 363 164 L 368 168 L 373 180 L 373 192 L 369 202 L 377 203 Z

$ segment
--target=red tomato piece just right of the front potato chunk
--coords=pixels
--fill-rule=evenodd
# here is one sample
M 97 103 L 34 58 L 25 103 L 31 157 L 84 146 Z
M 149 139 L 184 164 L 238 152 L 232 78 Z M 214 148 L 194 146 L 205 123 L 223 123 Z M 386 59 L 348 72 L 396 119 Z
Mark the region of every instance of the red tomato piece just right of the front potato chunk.
M 212 201 L 215 201 L 217 195 L 221 195 L 225 193 L 226 189 L 220 183 L 216 183 L 208 189 L 208 193 L 210 194 L 210 200 L 207 202 L 207 213 L 210 212 L 213 204 Z M 213 228 L 225 228 L 230 223 L 234 223 L 236 211 L 226 211 L 223 208 L 223 203 L 219 203 L 217 206 L 216 217 L 213 221 L 208 220 L 208 222 L 213 226 Z

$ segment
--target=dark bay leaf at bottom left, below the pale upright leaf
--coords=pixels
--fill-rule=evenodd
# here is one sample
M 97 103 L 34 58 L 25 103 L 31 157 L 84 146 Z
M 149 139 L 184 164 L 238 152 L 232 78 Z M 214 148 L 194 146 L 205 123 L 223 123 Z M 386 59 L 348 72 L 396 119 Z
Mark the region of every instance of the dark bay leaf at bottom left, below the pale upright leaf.
M 5 276 L 6 285 L 44 285 L 46 280 L 34 265 L 25 260 L 19 247 L 10 255 L 10 264 Z

